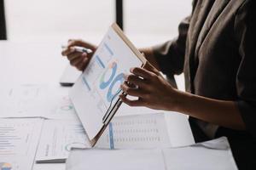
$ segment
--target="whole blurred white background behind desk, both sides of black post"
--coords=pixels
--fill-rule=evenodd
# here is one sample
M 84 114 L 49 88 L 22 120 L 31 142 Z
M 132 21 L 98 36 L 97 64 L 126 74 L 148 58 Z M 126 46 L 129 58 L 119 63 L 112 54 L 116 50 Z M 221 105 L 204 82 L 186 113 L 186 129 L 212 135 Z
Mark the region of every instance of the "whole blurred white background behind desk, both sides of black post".
M 123 7 L 123 17 L 116 16 L 117 3 L 119 8 Z M 0 9 L 0 24 L 3 28 L 5 12 L 10 41 L 67 42 L 68 38 L 82 38 L 98 43 L 119 17 L 131 42 L 144 47 L 177 36 L 177 25 L 190 14 L 191 3 L 191 0 L 6 0 L 1 5 L 4 11 Z

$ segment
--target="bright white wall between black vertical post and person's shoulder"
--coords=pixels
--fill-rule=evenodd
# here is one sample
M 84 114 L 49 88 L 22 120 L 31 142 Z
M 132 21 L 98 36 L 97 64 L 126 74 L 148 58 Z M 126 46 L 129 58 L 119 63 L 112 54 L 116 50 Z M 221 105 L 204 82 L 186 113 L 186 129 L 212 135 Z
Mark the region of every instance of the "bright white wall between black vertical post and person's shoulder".
M 125 31 L 138 45 L 172 39 L 179 22 L 191 13 L 191 4 L 192 0 L 127 0 Z

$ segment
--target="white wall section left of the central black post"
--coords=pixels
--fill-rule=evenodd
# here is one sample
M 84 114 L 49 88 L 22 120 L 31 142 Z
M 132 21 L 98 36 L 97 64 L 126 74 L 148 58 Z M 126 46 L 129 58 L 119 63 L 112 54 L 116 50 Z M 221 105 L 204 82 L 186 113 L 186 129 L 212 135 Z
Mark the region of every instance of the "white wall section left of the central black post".
M 9 40 L 101 38 L 113 0 L 5 0 Z M 99 37 L 99 36 L 100 37 Z M 95 38 L 92 38 L 95 39 Z

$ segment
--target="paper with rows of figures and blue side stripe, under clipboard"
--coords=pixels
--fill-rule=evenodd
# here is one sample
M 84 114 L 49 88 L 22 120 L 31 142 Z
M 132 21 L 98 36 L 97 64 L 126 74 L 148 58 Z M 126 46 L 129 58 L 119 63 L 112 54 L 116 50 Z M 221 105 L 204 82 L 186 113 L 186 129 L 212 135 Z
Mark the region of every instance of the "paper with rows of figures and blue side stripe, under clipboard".
M 98 148 L 141 149 L 172 146 L 164 114 L 117 116 L 96 144 Z

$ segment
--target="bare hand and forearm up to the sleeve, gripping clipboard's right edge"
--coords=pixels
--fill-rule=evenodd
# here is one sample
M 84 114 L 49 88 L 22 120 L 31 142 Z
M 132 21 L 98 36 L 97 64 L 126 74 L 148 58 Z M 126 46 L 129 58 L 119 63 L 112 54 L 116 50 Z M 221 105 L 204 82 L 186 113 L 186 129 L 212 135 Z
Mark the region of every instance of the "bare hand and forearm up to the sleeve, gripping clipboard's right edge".
M 122 84 L 121 88 L 125 94 L 138 97 L 131 100 L 121 95 L 122 101 L 127 105 L 177 111 L 219 126 L 245 129 L 234 101 L 210 99 L 178 91 L 150 64 L 144 68 L 131 68 L 131 75 L 125 76 L 125 82 L 137 87 Z

